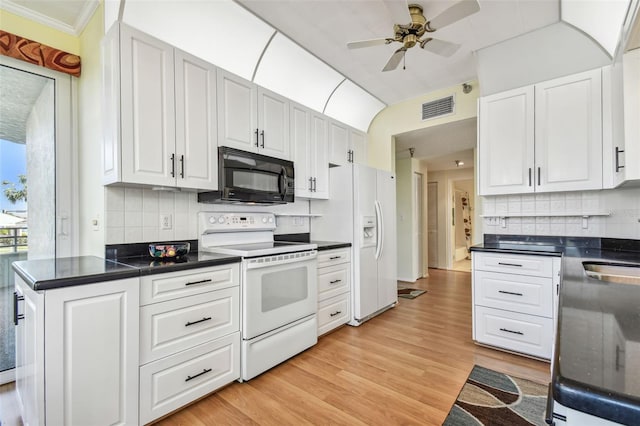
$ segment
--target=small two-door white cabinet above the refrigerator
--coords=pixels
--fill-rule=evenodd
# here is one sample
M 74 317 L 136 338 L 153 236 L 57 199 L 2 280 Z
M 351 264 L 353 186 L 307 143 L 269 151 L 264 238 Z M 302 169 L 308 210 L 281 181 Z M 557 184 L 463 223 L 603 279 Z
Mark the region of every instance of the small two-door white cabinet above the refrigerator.
M 367 134 L 336 120 L 329 120 L 329 163 L 367 164 Z

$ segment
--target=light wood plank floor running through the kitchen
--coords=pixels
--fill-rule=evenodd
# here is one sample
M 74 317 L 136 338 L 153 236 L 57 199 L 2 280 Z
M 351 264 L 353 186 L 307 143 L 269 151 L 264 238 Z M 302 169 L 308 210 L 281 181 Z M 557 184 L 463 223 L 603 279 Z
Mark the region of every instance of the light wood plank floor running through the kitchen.
M 430 270 L 428 290 L 360 327 L 345 326 L 255 379 L 158 422 L 201 425 L 440 425 L 474 364 L 547 383 L 549 364 L 475 345 L 471 274 Z M 12 401 L 0 387 L 0 409 Z M 6 415 L 5 415 L 6 414 Z M 3 426 L 19 423 L 0 412 Z

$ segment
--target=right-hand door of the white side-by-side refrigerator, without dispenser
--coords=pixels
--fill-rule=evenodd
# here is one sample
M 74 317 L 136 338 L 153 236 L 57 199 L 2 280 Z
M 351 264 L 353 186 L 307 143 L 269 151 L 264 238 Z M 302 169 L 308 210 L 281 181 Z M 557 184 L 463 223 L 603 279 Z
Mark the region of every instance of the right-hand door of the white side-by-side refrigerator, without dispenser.
M 377 170 L 378 226 L 378 307 L 398 301 L 396 179 L 391 173 Z

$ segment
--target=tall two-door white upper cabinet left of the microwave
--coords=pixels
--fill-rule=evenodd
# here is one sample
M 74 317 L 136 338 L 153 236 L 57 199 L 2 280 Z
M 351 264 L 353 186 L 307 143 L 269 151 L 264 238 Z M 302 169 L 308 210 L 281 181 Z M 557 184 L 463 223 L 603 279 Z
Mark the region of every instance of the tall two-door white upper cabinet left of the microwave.
M 123 24 L 103 48 L 104 183 L 216 189 L 216 68 Z

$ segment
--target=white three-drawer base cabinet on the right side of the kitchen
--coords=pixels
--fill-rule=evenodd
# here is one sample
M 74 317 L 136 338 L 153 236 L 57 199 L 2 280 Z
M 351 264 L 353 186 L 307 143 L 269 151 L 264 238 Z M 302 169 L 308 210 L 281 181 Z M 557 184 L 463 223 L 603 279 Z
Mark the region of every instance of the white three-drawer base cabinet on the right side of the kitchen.
M 473 252 L 473 339 L 551 359 L 560 258 Z

